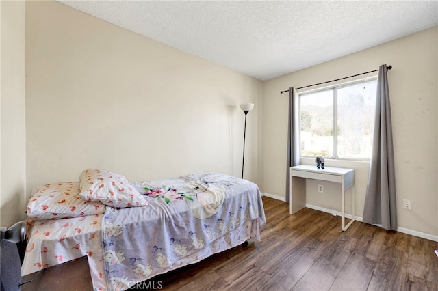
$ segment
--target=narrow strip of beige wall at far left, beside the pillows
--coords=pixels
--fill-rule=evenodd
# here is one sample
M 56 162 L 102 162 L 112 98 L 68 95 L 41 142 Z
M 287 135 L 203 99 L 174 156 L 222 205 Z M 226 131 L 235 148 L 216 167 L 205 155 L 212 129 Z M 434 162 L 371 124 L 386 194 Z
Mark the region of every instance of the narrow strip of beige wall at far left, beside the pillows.
M 0 1 L 0 226 L 25 218 L 25 3 Z

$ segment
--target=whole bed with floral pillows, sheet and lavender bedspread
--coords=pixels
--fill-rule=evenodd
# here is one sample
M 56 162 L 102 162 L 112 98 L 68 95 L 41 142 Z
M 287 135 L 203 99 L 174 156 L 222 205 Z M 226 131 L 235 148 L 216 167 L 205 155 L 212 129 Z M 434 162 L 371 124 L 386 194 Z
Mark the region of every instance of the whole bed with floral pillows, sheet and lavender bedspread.
M 94 290 L 126 290 L 253 238 L 266 223 L 256 184 L 216 173 L 129 182 L 87 169 L 37 187 L 22 275 L 88 257 Z

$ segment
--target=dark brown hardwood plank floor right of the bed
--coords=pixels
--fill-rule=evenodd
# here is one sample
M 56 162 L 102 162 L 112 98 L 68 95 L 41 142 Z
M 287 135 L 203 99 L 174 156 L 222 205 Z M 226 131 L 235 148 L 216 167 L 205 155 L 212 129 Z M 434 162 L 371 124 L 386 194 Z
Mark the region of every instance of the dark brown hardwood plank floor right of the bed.
M 159 275 L 162 290 L 436 290 L 438 243 L 263 197 L 261 242 Z M 147 286 L 147 285 L 146 285 Z

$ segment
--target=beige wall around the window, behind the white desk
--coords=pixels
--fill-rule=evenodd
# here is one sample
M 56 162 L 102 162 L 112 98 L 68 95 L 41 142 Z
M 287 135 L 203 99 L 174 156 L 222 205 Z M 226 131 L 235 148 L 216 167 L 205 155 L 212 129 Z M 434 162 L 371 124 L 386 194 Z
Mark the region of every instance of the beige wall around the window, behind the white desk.
M 398 225 L 438 235 L 438 27 L 393 42 L 347 55 L 318 66 L 263 82 L 263 191 L 285 197 L 287 148 L 287 94 L 280 90 L 301 87 L 350 74 L 366 72 L 381 64 L 388 72 L 396 158 Z M 313 159 L 302 161 L 313 164 Z M 335 167 L 356 169 L 356 210 L 363 215 L 368 163 L 326 161 Z M 318 194 L 317 182 L 307 182 L 307 202 L 340 210 L 337 190 L 329 184 Z M 412 210 L 402 209 L 410 199 Z M 337 209 L 335 208 L 337 206 Z

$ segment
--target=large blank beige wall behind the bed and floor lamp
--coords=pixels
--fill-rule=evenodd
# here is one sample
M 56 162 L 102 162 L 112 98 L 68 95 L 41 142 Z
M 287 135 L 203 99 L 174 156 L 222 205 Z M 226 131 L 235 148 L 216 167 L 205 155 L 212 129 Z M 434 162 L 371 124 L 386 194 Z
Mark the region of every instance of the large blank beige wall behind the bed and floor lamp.
M 101 167 L 131 181 L 202 171 L 258 182 L 261 81 L 61 3 L 26 3 L 27 185 Z

